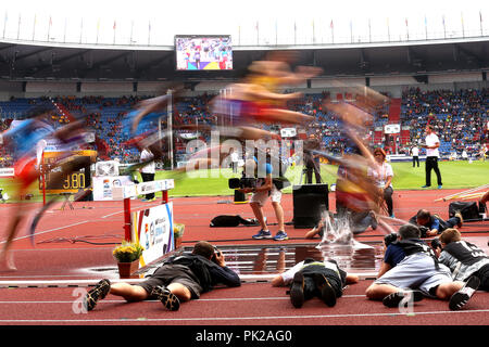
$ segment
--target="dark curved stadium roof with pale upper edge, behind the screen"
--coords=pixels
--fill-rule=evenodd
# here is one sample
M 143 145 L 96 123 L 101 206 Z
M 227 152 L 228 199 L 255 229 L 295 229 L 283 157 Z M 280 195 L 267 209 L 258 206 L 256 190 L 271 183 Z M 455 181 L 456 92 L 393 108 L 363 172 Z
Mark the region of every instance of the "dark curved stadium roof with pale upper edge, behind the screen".
M 175 52 L 171 47 L 138 50 L 0 42 L 0 80 L 228 80 L 276 49 L 297 51 L 300 56 L 297 65 L 321 66 L 326 77 L 423 76 L 489 69 L 488 37 L 399 44 L 241 47 L 234 50 L 233 72 L 175 70 Z

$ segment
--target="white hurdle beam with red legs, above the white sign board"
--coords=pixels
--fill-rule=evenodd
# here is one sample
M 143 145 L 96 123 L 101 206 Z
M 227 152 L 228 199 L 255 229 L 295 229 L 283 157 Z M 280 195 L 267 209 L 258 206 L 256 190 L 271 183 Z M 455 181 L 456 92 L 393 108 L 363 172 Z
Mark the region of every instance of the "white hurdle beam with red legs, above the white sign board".
M 112 188 L 113 198 L 124 202 L 124 240 L 127 242 L 131 241 L 133 222 L 130 220 L 130 200 L 141 194 L 162 192 L 161 203 L 167 204 L 170 203 L 168 190 L 174 188 L 175 182 L 173 179 Z

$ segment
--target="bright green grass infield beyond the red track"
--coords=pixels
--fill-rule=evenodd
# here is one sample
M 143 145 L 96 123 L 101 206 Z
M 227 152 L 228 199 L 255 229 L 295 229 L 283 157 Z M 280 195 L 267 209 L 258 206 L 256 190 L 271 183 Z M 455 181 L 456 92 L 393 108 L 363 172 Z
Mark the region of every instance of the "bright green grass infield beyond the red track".
M 471 189 L 489 183 L 489 162 L 477 160 L 472 164 L 467 162 L 440 162 L 439 167 L 443 179 L 443 189 Z M 421 163 L 421 166 L 416 168 L 413 168 L 411 163 L 392 163 L 392 168 L 394 171 L 392 181 L 394 190 L 421 190 L 421 187 L 425 184 L 425 163 Z M 336 166 L 322 165 L 323 180 L 328 184 L 335 183 L 336 170 Z M 286 176 L 293 184 L 298 184 L 301 171 L 301 167 L 289 168 Z M 213 169 L 178 177 L 172 177 L 171 171 L 158 171 L 155 179 L 175 179 L 175 189 L 171 191 L 171 196 L 203 196 L 233 195 L 234 191 L 227 185 L 227 180 L 231 177 L 239 177 L 239 175 L 233 175 L 231 169 Z M 431 172 L 431 185 L 436 188 L 435 172 Z M 12 195 L 12 179 L 0 179 L 0 188 L 3 189 L 3 192 Z M 284 190 L 284 193 L 291 192 L 291 187 Z M 35 201 L 42 198 L 37 184 L 33 184 L 32 193 L 35 195 Z

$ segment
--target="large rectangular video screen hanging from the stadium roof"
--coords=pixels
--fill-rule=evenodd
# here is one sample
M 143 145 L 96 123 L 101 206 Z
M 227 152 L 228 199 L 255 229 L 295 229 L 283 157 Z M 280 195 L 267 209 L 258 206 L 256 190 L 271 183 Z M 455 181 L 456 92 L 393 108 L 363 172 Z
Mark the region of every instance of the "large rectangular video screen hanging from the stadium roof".
M 230 36 L 175 36 L 177 70 L 233 69 Z

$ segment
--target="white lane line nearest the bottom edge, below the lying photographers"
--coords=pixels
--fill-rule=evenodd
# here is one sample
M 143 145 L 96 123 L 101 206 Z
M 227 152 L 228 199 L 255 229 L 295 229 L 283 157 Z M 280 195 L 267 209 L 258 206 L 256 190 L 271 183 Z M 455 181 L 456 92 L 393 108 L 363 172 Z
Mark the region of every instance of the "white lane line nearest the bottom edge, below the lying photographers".
M 481 310 L 463 310 L 463 311 L 425 311 L 413 312 L 416 314 L 464 314 L 464 313 L 484 313 L 489 312 L 489 309 Z M 120 319 L 12 319 L 0 320 L 0 323 L 85 323 L 85 322 L 181 322 L 181 321 L 246 321 L 246 320 L 288 320 L 291 319 L 327 319 L 327 318 L 362 318 L 362 317 L 402 317 L 405 313 L 391 312 L 391 313 L 344 313 L 344 314 L 306 314 L 306 316 L 267 316 L 267 317 L 198 317 L 198 318 L 120 318 Z

